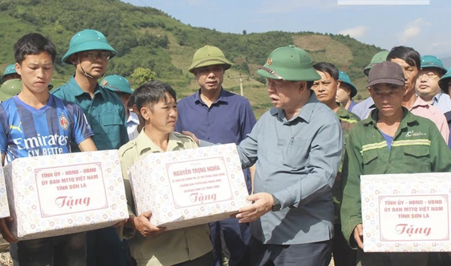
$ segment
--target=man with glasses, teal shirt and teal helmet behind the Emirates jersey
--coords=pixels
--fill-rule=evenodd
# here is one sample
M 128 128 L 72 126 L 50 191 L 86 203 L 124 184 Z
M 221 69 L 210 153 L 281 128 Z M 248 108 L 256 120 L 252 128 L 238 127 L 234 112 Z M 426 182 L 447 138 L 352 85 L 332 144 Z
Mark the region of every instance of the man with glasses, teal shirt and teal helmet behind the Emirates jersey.
M 75 66 L 75 75 L 69 82 L 55 88 L 55 96 L 79 105 L 91 125 L 92 140 L 99 150 L 119 149 L 129 142 L 125 110 L 119 97 L 101 87 L 97 80 L 116 55 L 106 37 L 99 31 L 84 29 L 75 33 L 69 50 L 61 61 Z M 79 151 L 73 146 L 72 151 Z M 125 266 L 129 259 L 126 241 L 121 241 L 113 227 L 87 233 L 87 265 Z

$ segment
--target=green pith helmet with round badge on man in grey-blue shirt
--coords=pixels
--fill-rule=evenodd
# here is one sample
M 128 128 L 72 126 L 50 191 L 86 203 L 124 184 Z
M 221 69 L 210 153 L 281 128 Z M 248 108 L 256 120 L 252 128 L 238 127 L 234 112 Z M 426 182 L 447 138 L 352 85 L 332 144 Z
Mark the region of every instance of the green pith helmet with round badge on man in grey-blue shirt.
M 289 81 L 315 81 L 321 76 L 313 68 L 308 53 L 294 45 L 279 47 L 268 56 L 257 74 L 265 78 Z

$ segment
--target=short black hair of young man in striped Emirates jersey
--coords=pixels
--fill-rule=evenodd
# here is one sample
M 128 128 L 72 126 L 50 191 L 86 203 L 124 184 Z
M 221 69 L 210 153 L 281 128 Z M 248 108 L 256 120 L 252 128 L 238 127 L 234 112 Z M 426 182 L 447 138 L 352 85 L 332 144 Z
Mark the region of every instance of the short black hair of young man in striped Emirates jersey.
M 39 33 L 25 34 L 14 44 L 14 59 L 18 64 L 22 64 L 25 56 L 38 55 L 41 52 L 49 54 L 52 57 L 52 63 L 55 63 L 55 45 L 49 38 Z

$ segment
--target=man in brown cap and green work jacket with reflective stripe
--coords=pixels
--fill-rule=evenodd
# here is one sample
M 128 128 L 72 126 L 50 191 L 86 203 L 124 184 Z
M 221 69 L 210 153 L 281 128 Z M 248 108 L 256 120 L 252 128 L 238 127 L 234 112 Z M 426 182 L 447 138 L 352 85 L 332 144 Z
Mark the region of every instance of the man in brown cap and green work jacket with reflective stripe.
M 345 145 L 342 232 L 352 248 L 359 248 L 358 266 L 426 266 L 426 252 L 363 252 L 360 175 L 447 172 L 451 152 L 431 120 L 403 106 L 406 87 L 399 64 L 373 66 L 367 87 L 376 110 L 354 126 Z

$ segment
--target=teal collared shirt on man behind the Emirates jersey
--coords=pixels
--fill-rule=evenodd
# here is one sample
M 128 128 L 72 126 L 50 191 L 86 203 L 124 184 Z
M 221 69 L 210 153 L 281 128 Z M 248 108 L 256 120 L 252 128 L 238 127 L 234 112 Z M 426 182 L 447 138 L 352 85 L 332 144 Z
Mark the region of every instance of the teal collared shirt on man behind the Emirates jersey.
M 121 145 L 129 141 L 124 105 L 114 92 L 97 84 L 94 96 L 91 98 L 72 77 L 68 83 L 51 93 L 82 108 L 94 132 L 92 140 L 98 150 L 119 149 Z M 80 151 L 80 149 L 77 145 L 72 145 L 72 151 Z

